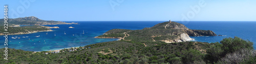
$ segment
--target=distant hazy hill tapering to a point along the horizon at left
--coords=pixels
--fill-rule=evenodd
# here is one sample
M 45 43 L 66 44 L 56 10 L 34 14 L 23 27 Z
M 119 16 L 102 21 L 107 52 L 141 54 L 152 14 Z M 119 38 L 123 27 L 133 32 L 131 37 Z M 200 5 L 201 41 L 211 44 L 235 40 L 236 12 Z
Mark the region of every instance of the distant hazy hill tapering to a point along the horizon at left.
M 1 25 L 4 25 L 4 19 L 0 19 Z M 8 18 L 8 25 L 58 25 L 58 24 L 70 24 L 54 20 L 42 20 L 34 16 L 20 17 L 20 18 Z

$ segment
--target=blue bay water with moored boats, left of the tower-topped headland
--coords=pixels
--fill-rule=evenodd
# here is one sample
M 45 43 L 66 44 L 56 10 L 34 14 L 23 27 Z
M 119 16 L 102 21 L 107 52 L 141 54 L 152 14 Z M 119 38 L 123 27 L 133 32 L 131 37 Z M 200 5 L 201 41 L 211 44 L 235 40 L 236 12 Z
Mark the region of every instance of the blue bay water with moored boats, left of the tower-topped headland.
M 68 22 L 72 23 L 72 22 Z M 48 32 L 37 32 L 32 34 L 9 35 L 8 48 L 22 49 L 26 51 L 49 51 L 71 47 L 86 46 L 105 41 L 118 40 L 116 38 L 94 38 L 111 29 L 139 30 L 152 27 L 161 22 L 78 22 L 79 25 L 45 25 L 59 27 Z M 74 28 L 69 28 L 74 27 Z M 84 34 L 83 33 L 84 30 Z M 66 34 L 64 34 L 66 32 Z M 54 36 L 54 33 L 56 36 Z M 40 36 L 39 36 L 40 35 Z M 20 37 L 12 39 L 11 37 Z M 28 36 L 28 37 L 26 37 Z M 36 37 L 39 36 L 39 37 Z M 25 38 L 23 38 L 25 37 Z M 4 41 L 4 37 L 0 38 Z M 0 45 L 4 48 L 4 45 Z

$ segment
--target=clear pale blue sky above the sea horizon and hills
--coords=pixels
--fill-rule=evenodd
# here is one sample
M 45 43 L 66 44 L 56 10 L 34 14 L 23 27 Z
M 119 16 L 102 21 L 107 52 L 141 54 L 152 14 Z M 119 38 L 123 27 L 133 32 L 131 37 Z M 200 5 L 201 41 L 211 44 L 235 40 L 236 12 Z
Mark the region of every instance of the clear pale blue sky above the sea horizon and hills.
M 36 16 L 44 20 L 60 21 L 167 21 L 169 19 L 256 21 L 255 0 L 4 0 L 0 2 L 3 9 L 4 5 L 9 6 L 9 18 Z M 25 6 L 23 2 L 26 2 Z M 112 7 L 111 4 L 119 6 Z M 0 14 L 4 16 L 4 13 Z

